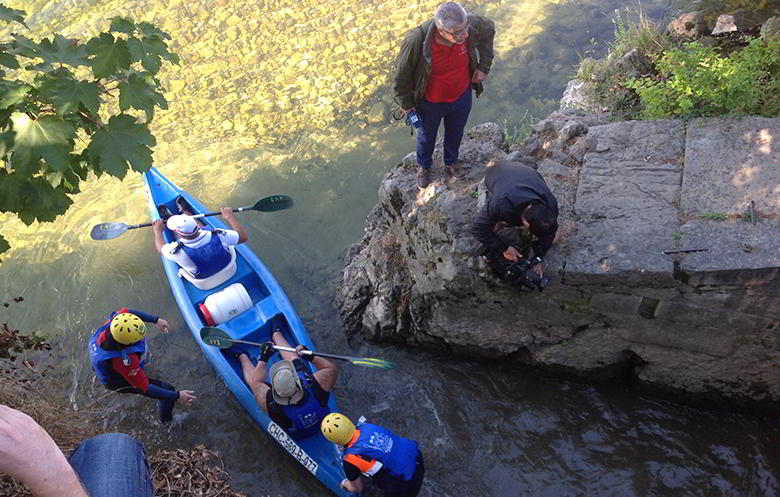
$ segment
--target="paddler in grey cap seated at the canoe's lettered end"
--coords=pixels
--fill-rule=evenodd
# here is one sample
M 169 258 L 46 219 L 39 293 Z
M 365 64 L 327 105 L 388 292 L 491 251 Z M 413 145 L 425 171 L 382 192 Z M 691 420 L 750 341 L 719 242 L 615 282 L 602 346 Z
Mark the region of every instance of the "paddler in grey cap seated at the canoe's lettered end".
M 271 339 L 275 345 L 290 347 L 278 330 Z M 303 345 L 295 350 L 280 351 L 282 360 L 271 368 L 270 385 L 265 382 L 265 370 L 274 353 L 271 343 L 263 344 L 256 365 L 246 352 L 239 352 L 238 359 L 257 404 L 290 436 L 302 438 L 316 433 L 320 421 L 330 412 L 328 398 L 338 379 L 339 368 L 323 357 L 303 354 Z M 311 361 L 317 371 L 312 373 L 304 361 Z

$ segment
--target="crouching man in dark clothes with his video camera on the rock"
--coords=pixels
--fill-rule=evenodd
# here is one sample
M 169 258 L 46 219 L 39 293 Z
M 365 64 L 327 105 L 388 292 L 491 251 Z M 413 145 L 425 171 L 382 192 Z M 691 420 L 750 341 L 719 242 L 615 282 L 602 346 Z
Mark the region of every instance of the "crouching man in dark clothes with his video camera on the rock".
M 481 255 L 499 277 L 518 279 L 526 288 L 541 291 L 550 281 L 544 276 L 543 257 L 558 231 L 558 201 L 542 175 L 520 162 L 489 165 L 485 188 L 487 201 L 471 229 L 482 242 Z M 527 254 L 498 235 L 506 226 L 530 232 L 533 241 Z M 514 272 L 517 278 L 512 277 Z

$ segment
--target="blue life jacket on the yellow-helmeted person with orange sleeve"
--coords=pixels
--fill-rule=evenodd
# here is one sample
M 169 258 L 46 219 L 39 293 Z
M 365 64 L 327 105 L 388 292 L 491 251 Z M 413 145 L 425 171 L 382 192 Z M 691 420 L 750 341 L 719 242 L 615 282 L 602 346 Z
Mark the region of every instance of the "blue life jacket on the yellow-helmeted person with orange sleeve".
M 414 440 L 399 437 L 387 428 L 363 423 L 358 439 L 344 449 L 343 456 L 349 454 L 376 459 L 390 476 L 409 481 L 417 468 L 420 449 Z

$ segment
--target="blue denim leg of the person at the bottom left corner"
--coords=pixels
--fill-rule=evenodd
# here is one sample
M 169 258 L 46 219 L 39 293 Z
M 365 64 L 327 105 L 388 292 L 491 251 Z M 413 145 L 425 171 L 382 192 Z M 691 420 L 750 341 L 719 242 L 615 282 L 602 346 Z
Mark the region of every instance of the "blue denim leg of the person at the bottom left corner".
M 133 437 L 92 437 L 81 442 L 68 461 L 90 497 L 154 497 L 146 451 Z

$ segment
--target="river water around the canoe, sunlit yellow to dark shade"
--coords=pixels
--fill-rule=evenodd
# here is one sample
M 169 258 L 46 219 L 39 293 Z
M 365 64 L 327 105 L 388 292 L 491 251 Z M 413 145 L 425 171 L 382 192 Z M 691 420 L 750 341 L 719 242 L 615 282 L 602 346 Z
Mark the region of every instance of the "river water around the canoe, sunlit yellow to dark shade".
M 181 67 L 162 71 L 170 109 L 153 131 L 160 169 L 207 205 L 250 205 L 287 193 L 296 206 L 242 214 L 250 245 L 295 302 L 322 350 L 387 358 L 391 373 L 345 366 L 342 409 L 422 442 L 422 495 L 776 495 L 776 424 L 724 416 L 522 371 L 456 363 L 415 350 L 348 343 L 331 305 L 341 255 L 363 231 L 379 180 L 414 139 L 389 124 L 390 78 L 404 31 L 436 1 L 8 0 L 37 36 L 87 37 L 116 15 L 172 35 Z M 659 17 L 669 1 L 642 3 Z M 468 8 L 496 21 L 496 59 L 471 123 L 512 123 L 550 110 L 578 51 L 600 55 L 619 0 L 485 0 Z M 14 28 L 16 29 L 16 28 Z M 153 248 L 133 230 L 94 242 L 104 221 L 147 219 L 138 176 L 91 179 L 57 222 L 25 227 L 1 217 L 13 245 L 0 266 L 3 298 L 23 305 L 3 321 L 57 337 L 64 391 L 84 406 L 105 393 L 85 341 L 111 310 L 160 314 L 174 329 L 150 331 L 151 374 L 198 394 L 170 430 L 145 399 L 109 396 L 112 429 L 148 447 L 206 443 L 248 495 L 324 495 L 313 478 L 258 433 L 200 354 Z M 54 376 L 54 375 L 52 375 Z M 180 412 L 180 415 L 184 411 Z

